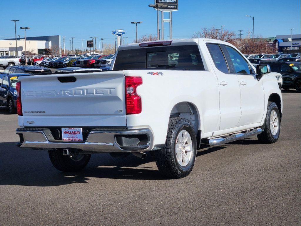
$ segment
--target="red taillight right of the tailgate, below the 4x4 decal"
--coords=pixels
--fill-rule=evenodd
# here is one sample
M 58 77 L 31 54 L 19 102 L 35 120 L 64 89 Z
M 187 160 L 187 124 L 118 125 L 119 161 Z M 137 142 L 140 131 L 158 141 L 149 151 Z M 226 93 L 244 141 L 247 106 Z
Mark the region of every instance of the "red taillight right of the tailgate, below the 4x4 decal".
M 126 114 L 139 114 L 142 111 L 141 97 L 137 94 L 137 86 L 142 84 L 141 77 L 126 76 L 125 91 L 126 91 Z

